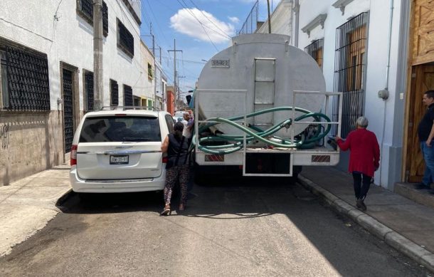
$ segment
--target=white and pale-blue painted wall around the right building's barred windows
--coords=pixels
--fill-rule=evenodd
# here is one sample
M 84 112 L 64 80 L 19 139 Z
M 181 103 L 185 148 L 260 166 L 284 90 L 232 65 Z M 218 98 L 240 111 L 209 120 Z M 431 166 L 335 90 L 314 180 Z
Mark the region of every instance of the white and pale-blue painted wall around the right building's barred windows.
M 393 183 L 400 181 L 401 156 L 403 143 L 403 100 L 399 98 L 400 93 L 406 90 L 406 82 L 398 79 L 397 76 L 406 76 L 405 51 L 408 43 L 408 33 L 400 32 L 401 26 L 408 28 L 408 18 L 403 16 L 410 13 L 408 3 L 404 0 L 393 1 L 393 21 L 391 34 L 391 64 L 389 68 L 389 80 L 386 84 L 388 28 L 391 15 L 391 0 L 370 1 L 354 0 L 349 3 L 344 14 L 340 9 L 334 8 L 336 0 L 300 0 L 300 21 L 299 30 L 292 29 L 290 33 L 298 32 L 298 47 L 305 48 L 312 41 L 324 39 L 323 74 L 326 80 L 328 91 L 334 89 L 334 58 L 336 28 L 361 14 L 369 12 L 368 47 L 366 52 L 366 97 L 364 114 L 369 118 L 369 130 L 376 133 L 381 147 L 381 167 L 376 172 L 376 184 L 393 189 Z M 404 6 L 404 10 L 401 10 Z M 312 29 L 310 35 L 302 32 L 302 28 L 315 19 L 319 14 L 327 14 L 324 28 L 317 26 Z M 285 13 L 273 14 L 275 17 L 295 16 Z M 272 17 L 273 19 L 273 17 Z M 274 19 L 280 21 L 282 19 Z M 407 25 L 406 25 L 407 22 Z M 265 25 L 265 24 L 264 24 Z M 295 23 L 292 23 L 295 26 Z M 265 28 L 263 26 L 261 30 Z M 400 60 L 401 58 L 401 60 Z M 398 66 L 401 65 L 401 66 Z M 388 87 L 390 96 L 388 100 L 378 98 L 378 91 Z M 346 168 L 347 154 L 342 155 L 342 168 Z M 397 162 L 398 160 L 398 162 Z

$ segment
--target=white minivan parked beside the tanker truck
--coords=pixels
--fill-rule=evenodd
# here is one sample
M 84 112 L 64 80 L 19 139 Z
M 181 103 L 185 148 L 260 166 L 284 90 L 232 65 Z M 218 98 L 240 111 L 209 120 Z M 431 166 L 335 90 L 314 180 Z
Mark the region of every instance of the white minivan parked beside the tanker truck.
M 172 132 L 169 113 L 100 110 L 86 113 L 70 155 L 74 192 L 146 192 L 164 189 L 162 142 Z

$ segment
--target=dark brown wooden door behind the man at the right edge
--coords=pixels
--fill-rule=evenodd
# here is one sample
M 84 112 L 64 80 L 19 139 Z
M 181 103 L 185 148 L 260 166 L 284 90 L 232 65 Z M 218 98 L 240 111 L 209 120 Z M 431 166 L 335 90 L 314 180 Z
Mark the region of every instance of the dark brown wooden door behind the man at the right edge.
M 425 169 L 418 140 L 418 124 L 426 112 L 422 98 L 427 90 L 434 90 L 434 66 L 413 66 L 406 161 L 408 182 L 420 182 Z

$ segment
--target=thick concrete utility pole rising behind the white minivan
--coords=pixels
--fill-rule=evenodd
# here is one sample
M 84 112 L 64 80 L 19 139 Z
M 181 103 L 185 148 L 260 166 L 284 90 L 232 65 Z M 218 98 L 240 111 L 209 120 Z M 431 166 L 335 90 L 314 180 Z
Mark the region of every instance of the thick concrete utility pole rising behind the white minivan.
M 93 109 L 100 110 L 104 100 L 102 88 L 102 0 L 93 1 Z

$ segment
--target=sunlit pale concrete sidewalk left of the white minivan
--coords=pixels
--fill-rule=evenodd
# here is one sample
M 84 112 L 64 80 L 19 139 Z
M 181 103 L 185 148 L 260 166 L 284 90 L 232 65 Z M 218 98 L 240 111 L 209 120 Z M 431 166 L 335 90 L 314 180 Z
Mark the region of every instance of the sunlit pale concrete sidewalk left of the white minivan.
M 55 203 L 70 189 L 69 169 L 60 165 L 0 187 L 0 256 L 58 214 Z

